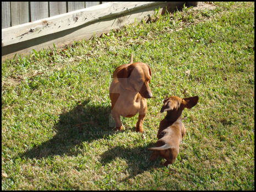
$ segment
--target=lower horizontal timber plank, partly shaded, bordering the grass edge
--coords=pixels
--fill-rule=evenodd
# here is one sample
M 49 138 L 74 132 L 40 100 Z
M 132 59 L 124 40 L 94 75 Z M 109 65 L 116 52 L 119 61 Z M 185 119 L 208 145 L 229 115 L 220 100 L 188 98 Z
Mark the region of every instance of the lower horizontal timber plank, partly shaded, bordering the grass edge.
M 7 58 L 13 58 L 15 53 L 29 54 L 32 49 L 40 50 L 42 48 L 52 48 L 53 43 L 55 43 L 57 48 L 61 48 L 66 44 L 73 44 L 74 41 L 90 39 L 94 35 L 100 36 L 103 32 L 119 29 L 124 25 L 133 23 L 135 18 L 138 24 L 141 19 L 147 20 L 150 15 L 152 16 L 156 8 L 160 7 L 159 13 L 162 13 L 162 10 L 164 10 L 166 6 L 170 6 L 170 4 L 173 9 L 176 9 L 176 5 L 180 5 L 181 2 L 165 2 L 157 5 L 151 4 L 150 7 L 135 9 L 126 14 L 122 14 L 122 16 L 113 15 L 111 18 L 95 20 L 94 22 L 90 22 L 90 24 L 80 25 L 72 29 L 59 31 L 36 39 L 30 39 L 24 43 L 16 43 L 2 47 L 2 61 Z

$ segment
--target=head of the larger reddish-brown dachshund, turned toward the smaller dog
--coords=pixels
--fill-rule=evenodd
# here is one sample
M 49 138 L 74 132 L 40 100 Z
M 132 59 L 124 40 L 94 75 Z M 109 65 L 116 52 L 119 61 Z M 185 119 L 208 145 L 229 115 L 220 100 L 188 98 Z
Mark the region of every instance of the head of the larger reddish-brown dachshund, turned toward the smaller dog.
M 118 81 L 123 88 L 139 92 L 144 98 L 151 98 L 152 92 L 149 87 L 151 70 L 145 63 L 133 63 L 123 66 L 117 71 Z

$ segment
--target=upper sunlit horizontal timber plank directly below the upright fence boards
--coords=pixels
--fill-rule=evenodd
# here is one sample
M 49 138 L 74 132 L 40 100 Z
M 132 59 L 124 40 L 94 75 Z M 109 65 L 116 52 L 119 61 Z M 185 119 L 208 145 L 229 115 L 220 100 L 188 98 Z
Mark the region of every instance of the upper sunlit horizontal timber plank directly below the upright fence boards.
M 2 47 L 161 3 L 163 2 L 111 2 L 8 27 L 2 30 Z

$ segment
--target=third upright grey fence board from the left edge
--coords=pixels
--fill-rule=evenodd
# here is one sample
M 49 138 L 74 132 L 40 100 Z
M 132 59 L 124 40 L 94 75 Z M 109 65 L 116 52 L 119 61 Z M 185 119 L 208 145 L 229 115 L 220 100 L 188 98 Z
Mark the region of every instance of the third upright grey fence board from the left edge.
M 48 2 L 30 2 L 31 21 L 48 18 Z

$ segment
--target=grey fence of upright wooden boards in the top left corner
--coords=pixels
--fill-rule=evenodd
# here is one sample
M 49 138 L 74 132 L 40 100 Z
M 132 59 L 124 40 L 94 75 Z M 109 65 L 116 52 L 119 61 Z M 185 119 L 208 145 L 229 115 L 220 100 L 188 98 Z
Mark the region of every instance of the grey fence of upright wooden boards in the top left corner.
M 107 2 L 2 2 L 2 29 Z

